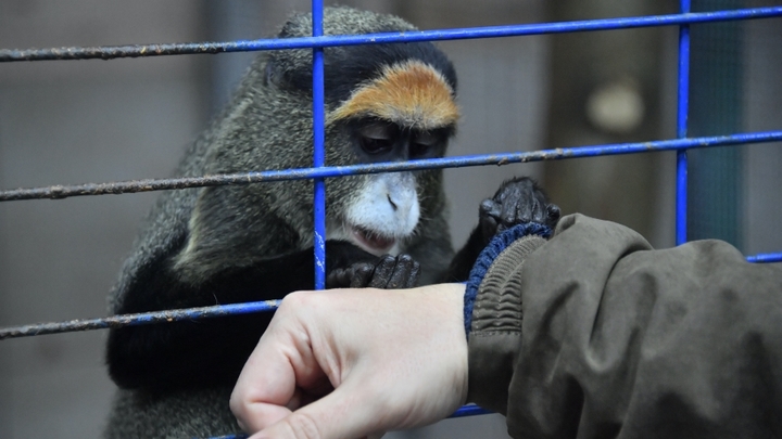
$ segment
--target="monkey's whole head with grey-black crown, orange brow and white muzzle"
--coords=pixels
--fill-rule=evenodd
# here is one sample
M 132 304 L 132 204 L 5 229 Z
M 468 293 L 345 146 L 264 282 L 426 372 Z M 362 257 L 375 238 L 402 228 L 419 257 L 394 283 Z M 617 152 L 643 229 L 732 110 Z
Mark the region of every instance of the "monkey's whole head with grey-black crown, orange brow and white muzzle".
M 412 29 L 398 18 L 368 16 L 348 9 L 350 33 L 400 31 Z M 280 37 L 308 35 L 308 16 L 286 25 Z M 340 18 L 341 20 L 341 18 Z M 341 21 L 325 26 L 340 34 Z M 354 28 L 354 26 L 358 26 Z M 444 53 L 429 42 L 403 44 L 351 46 L 325 49 L 326 164 L 342 166 L 381 162 L 441 157 L 447 139 L 454 133 L 459 109 L 456 105 L 456 75 Z M 275 91 L 278 126 L 287 132 L 307 132 L 310 126 L 295 127 L 292 109 L 312 107 L 312 53 L 304 50 L 272 52 L 264 69 L 264 87 Z M 279 99 L 277 99 L 279 98 Z M 307 115 L 307 122 L 308 116 Z M 279 151 L 294 164 L 308 164 L 306 153 L 298 158 Z M 283 144 L 279 142 L 279 144 Z M 305 165 L 306 166 L 306 165 Z M 434 218 L 442 210 L 439 171 L 396 172 L 351 176 L 326 181 L 327 238 L 346 240 L 363 249 L 382 255 L 404 248 L 421 218 Z M 298 188 L 297 199 L 285 203 L 306 206 L 312 189 L 306 182 L 287 183 Z M 291 193 L 293 191 L 289 191 Z M 279 209 L 290 214 L 291 209 Z M 312 245 L 311 214 L 288 223 L 300 224 L 302 247 Z

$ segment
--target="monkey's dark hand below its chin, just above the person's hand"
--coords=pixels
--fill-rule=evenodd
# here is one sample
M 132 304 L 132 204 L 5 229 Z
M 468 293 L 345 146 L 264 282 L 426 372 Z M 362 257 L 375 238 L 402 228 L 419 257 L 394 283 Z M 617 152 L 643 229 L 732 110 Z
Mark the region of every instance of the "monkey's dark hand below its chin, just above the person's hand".
M 413 288 L 418 286 L 420 266 L 409 255 L 386 255 L 376 262 L 356 262 L 335 269 L 326 276 L 328 288 Z

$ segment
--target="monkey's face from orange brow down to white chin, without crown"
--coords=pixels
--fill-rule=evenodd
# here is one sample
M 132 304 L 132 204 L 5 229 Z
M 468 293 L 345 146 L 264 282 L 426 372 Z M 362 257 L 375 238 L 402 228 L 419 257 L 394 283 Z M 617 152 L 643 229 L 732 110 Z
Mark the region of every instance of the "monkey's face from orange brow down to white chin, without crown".
M 454 133 L 458 107 L 449 80 L 433 66 L 407 60 L 386 65 L 354 88 L 329 119 L 341 127 L 332 147 L 353 163 L 406 162 L 442 157 Z M 365 176 L 346 198 L 343 218 L 329 235 L 376 254 L 396 254 L 412 236 L 422 211 L 420 182 L 413 172 Z M 355 181 L 353 184 L 356 184 Z M 340 197 L 345 199 L 344 197 Z

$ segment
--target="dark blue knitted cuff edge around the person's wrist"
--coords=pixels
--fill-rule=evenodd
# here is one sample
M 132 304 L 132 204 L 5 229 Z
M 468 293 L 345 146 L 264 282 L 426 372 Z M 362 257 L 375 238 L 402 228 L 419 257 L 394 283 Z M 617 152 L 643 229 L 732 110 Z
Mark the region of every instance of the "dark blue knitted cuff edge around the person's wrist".
M 478 287 L 483 282 L 483 276 L 489 267 L 494 262 L 494 259 L 510 245 L 514 241 L 527 236 L 527 235 L 539 235 L 545 238 L 551 237 L 552 230 L 543 224 L 537 222 L 525 222 L 517 224 L 510 229 L 495 235 L 489 245 L 485 246 L 483 251 L 478 255 L 475 266 L 470 271 L 470 275 L 467 279 L 467 287 L 465 288 L 464 299 L 464 313 L 465 313 L 465 333 L 469 339 L 469 330 L 472 325 L 472 306 L 475 305 L 476 296 L 478 296 Z

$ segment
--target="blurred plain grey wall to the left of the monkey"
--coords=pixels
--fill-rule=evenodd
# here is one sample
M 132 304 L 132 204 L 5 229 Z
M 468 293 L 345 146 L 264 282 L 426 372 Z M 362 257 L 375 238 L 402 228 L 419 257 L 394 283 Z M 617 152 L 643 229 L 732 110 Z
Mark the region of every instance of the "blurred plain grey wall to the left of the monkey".
M 0 2 L 3 48 L 202 39 L 186 0 Z M 204 59 L 0 65 L 0 188 L 166 177 L 205 120 Z M 0 204 L 0 325 L 105 315 L 154 194 Z M 0 438 L 98 437 L 105 332 L 0 341 Z

